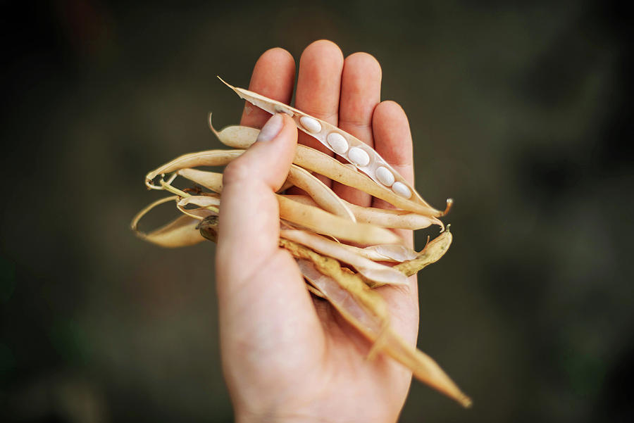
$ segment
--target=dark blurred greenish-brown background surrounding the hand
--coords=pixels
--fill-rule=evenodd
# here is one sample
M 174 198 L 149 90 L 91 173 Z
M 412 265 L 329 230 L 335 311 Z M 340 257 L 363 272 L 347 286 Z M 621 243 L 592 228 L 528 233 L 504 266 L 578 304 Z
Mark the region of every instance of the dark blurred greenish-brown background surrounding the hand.
M 212 244 L 144 244 L 147 170 L 220 145 L 273 46 L 383 65 L 454 245 L 401 422 L 632 421 L 632 15 L 611 1 L 3 1 L 0 420 L 230 422 Z M 161 213 L 164 213 L 161 215 Z M 148 225 L 174 213 L 162 210 Z M 417 237 L 420 248 L 425 232 Z M 249 258 L 244 258 L 249 260 Z

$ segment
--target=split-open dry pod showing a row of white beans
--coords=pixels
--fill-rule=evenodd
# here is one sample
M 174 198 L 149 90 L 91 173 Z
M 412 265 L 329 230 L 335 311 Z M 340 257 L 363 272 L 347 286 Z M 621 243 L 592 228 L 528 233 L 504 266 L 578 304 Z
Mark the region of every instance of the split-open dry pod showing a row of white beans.
M 254 106 L 258 106 L 271 114 L 286 113 L 290 115 L 299 130 L 309 134 L 321 142 L 323 146 L 330 149 L 330 151 L 348 160 L 349 163 L 352 163 L 352 165 L 356 166 L 361 172 L 371 177 L 376 184 L 387 187 L 393 191 L 394 194 L 397 194 L 397 196 L 406 199 L 411 198 L 415 203 L 430 208 L 429 204 L 423 200 L 404 177 L 399 175 L 379 153 L 360 139 L 348 134 L 335 125 L 314 118 L 296 108 L 269 99 L 266 96 L 249 91 L 248 89 L 233 87 L 220 77 L 218 77 L 218 79 L 235 91 L 240 98 L 249 101 L 249 103 L 254 104 Z M 440 210 L 435 210 L 435 213 L 436 216 L 442 215 Z

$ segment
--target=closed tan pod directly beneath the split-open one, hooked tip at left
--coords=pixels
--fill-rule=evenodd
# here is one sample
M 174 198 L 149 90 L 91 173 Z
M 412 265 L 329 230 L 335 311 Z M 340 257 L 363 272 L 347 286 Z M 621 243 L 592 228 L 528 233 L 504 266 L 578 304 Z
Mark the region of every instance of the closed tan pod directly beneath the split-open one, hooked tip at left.
M 249 146 L 256 141 L 259 134 L 259 130 L 243 126 L 225 127 L 220 132 L 216 131 L 212 126 L 211 130 L 216 134 L 220 142 L 235 149 L 248 149 Z M 308 146 L 303 146 L 302 144 L 297 144 L 293 163 L 301 168 L 328 177 L 333 181 L 340 182 L 341 184 L 380 198 L 392 204 L 392 206 L 417 213 L 418 215 L 439 217 L 447 214 L 452 205 L 452 201 L 447 200 L 447 208 L 445 211 L 440 212 L 428 205 L 416 203 L 411 199 L 397 195 L 392 189 L 388 189 L 383 186 L 383 184 L 377 184 L 366 175 L 357 172 L 354 167 L 350 168 L 350 165 L 344 165 L 344 163 L 328 156 L 328 154 L 324 154 L 316 149 L 311 149 L 311 147 Z M 440 221 L 434 221 L 434 223 L 437 222 Z

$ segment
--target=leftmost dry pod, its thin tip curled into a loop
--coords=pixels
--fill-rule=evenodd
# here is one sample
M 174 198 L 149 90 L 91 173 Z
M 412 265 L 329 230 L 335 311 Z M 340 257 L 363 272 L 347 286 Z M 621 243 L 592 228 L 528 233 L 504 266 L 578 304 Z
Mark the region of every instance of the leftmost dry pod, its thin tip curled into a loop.
M 204 241 L 204 238 L 197 229 L 198 220 L 189 216 L 177 217 L 167 225 L 149 232 L 149 234 L 139 231 L 139 220 L 141 220 L 141 218 L 148 213 L 149 210 L 159 206 L 159 204 L 176 201 L 177 199 L 178 196 L 169 196 L 161 198 L 161 200 L 154 201 L 154 203 L 151 203 L 149 206 L 137 213 L 137 215 L 132 219 L 130 227 L 132 227 L 132 230 L 135 234 L 137 234 L 137 236 L 139 236 L 139 238 L 166 248 L 191 246 Z

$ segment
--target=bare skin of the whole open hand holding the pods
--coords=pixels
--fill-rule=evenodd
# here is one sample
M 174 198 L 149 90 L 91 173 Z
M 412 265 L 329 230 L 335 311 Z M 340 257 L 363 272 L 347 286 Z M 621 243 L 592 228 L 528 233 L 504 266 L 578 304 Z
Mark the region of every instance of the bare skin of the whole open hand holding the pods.
M 271 49 L 257 61 L 249 89 L 289 103 L 294 59 Z M 351 132 L 413 182 L 409 123 L 393 101 L 380 102 L 381 69 L 368 53 L 344 59 L 325 40 L 299 60 L 295 106 Z M 278 247 L 278 190 L 290 168 L 297 128 L 280 115 L 277 136 L 256 142 L 225 169 L 216 280 L 223 372 L 237 422 L 394 422 L 411 372 L 384 355 L 370 361 L 371 343 L 322 299 L 311 297 L 297 264 Z M 262 127 L 271 115 L 246 106 L 241 125 Z M 318 146 L 306 134 L 299 142 Z M 318 146 L 321 151 L 323 147 Z M 330 152 L 328 152 L 330 153 Z M 332 184 L 344 200 L 389 205 Z M 397 231 L 412 246 L 411 231 Z M 416 277 L 409 289 L 377 289 L 390 306 L 394 330 L 412 345 L 418 331 Z

